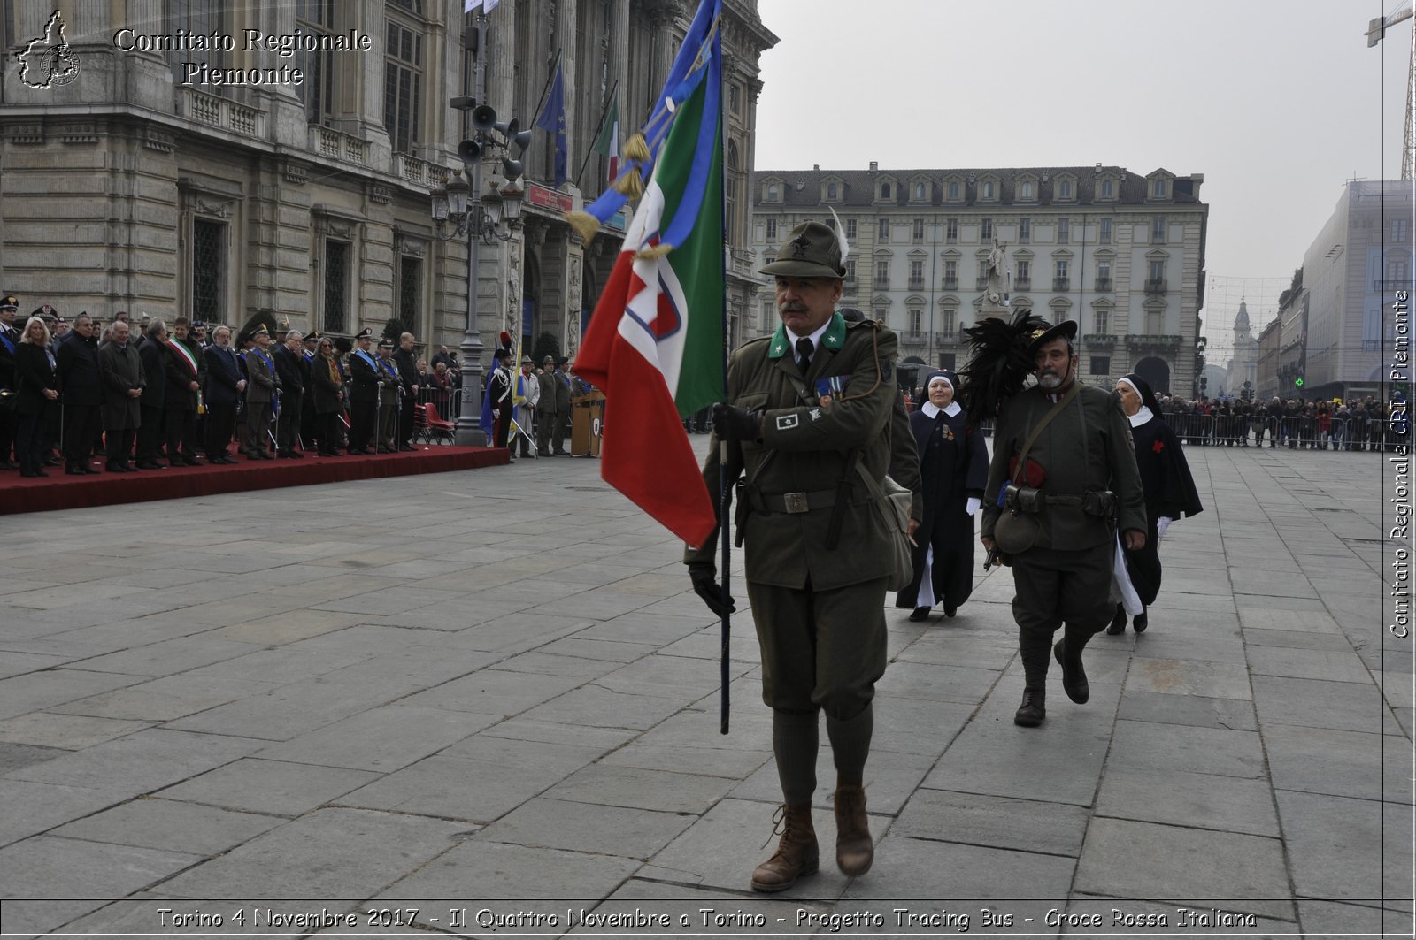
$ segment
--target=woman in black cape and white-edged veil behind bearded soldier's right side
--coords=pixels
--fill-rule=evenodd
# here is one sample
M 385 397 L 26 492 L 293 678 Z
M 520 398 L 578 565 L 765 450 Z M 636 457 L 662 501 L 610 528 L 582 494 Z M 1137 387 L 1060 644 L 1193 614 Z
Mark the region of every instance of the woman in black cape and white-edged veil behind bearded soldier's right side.
M 1160 593 L 1160 539 L 1174 520 L 1204 511 L 1195 480 L 1189 476 L 1189 463 L 1180 449 L 1180 439 L 1161 418 L 1155 394 L 1140 375 L 1134 372 L 1116 381 L 1121 396 L 1121 409 L 1131 422 L 1131 440 L 1136 445 L 1136 466 L 1141 471 L 1141 488 L 1146 491 L 1146 545 L 1137 551 L 1123 549 L 1126 575 L 1141 602 L 1141 612 L 1131 620 L 1136 633 L 1144 633 L 1146 607 L 1155 602 Z M 1126 593 L 1124 590 L 1121 592 Z M 1116 604 L 1106 631 L 1112 636 L 1126 633 L 1126 607 Z

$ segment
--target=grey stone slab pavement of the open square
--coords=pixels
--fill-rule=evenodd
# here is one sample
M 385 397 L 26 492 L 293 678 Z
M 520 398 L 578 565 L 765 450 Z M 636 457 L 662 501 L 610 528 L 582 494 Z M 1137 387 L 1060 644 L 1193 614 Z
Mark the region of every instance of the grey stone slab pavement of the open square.
M 307 488 L 265 541 L 246 538 L 259 495 L 174 501 L 169 524 L 126 507 L 17 517 L 17 571 L 50 593 L 0 624 L 0 660 L 20 670 L 0 670 L 0 851 L 193 865 L 115 888 L 135 896 L 507 885 L 605 910 L 644 896 L 845 915 L 903 895 L 973 899 L 974 932 L 990 907 L 1034 936 L 1089 933 L 1051 926 L 1049 907 L 1160 912 L 1216 892 L 1259 915 L 1245 936 L 1341 923 L 1320 898 L 1409 912 L 1409 864 L 1386 886 L 1406 899 L 1382 899 L 1374 859 L 1383 844 L 1410 855 L 1416 663 L 1364 596 L 1382 546 L 1347 541 L 1381 537 L 1378 483 L 1359 454 L 1187 454 L 1206 512 L 1161 546 L 1151 630 L 1089 646 L 1087 705 L 1052 670 L 1041 729 L 1011 721 L 1011 571 L 976 572 L 954 619 L 886 607 L 877 866 L 852 881 L 830 864 L 823 747 L 827 868 L 782 899 L 746 890 L 780 801 L 750 616 L 733 620 L 721 735 L 718 623 L 680 546 L 596 462 Z M 65 559 L 95 546 L 109 561 L 74 576 Z M 742 602 L 741 552 L 732 568 Z M 57 603 L 69 586 L 95 590 Z M 64 922 L 144 929 L 116 907 L 34 920 Z

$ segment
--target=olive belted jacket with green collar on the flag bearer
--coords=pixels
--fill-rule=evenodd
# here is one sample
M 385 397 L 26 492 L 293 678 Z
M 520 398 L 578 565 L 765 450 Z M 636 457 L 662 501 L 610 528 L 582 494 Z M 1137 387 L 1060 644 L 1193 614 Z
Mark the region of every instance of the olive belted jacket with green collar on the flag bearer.
M 847 324 L 840 313 L 821 336 L 803 377 L 783 327 L 772 337 L 739 347 L 728 365 L 728 401 L 763 412 L 762 439 L 729 442 L 729 483 L 745 474 L 746 578 L 777 588 L 841 588 L 891 573 L 889 532 L 852 456 L 875 480 L 885 477 L 891 459 L 891 409 L 895 388 L 895 334 L 875 323 Z M 793 378 L 796 381 L 793 381 Z M 806 395 L 797 389 L 797 384 Z M 823 391 L 828 402 L 823 403 Z M 704 483 L 716 497 L 719 487 L 718 432 L 708 445 Z M 845 480 L 844 500 L 841 481 Z M 787 494 L 796 508 L 786 511 Z M 716 503 L 716 498 L 714 500 Z M 801 507 L 806 501 L 810 508 Z M 831 505 L 816 505 L 830 501 Z M 835 503 L 841 528 L 827 548 Z M 742 520 L 739 508 L 738 518 Z M 688 549 L 684 561 L 712 561 L 714 542 Z

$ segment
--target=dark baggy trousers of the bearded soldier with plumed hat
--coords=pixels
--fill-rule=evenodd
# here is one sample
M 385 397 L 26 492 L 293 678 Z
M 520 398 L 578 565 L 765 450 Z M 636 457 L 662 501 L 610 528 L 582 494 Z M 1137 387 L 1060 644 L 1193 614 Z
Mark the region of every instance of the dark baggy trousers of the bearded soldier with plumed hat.
M 1112 603 L 1112 542 L 1080 549 L 1031 548 L 1012 556 L 1012 619 L 1018 624 L 1018 653 L 1025 688 L 1042 692 L 1052 661 L 1052 634 L 1066 624 L 1066 647 L 1073 655 L 1093 634 L 1106 629 Z

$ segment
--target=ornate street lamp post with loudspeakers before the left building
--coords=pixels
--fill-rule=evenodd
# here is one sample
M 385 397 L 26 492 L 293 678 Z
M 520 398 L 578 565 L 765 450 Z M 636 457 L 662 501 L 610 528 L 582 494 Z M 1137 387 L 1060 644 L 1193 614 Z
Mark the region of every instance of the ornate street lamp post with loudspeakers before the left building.
M 473 55 L 473 93 L 453 98 L 449 105 L 462 112 L 472 112 L 473 136 L 457 146 L 467 178 L 463 181 L 460 173 L 453 171 L 446 187 L 439 187 L 432 193 L 432 218 L 438 227 L 438 238 L 467 236 L 467 330 L 462 336 L 462 406 L 457 413 L 457 425 L 453 440 L 463 447 L 486 447 L 487 429 L 481 426 L 481 334 L 477 331 L 477 266 L 480 260 L 480 246 L 494 245 L 497 239 L 513 238 L 521 225 L 521 187 L 517 180 L 523 173 L 520 159 L 511 157 L 511 149 L 517 149 L 517 157 L 525 153 L 531 142 L 531 132 L 521 130 L 520 122 L 513 118 L 507 123 L 497 123 L 497 112 L 483 103 L 486 98 L 486 48 L 487 14 L 477 10 L 474 25 L 463 34 L 463 45 Z M 490 132 L 500 132 L 500 139 Z M 496 183 L 491 193 L 481 191 L 481 154 L 487 147 L 503 150 L 501 167 L 506 183 L 497 193 Z M 453 225 L 447 235 L 443 228 Z

